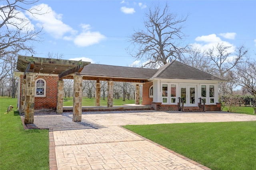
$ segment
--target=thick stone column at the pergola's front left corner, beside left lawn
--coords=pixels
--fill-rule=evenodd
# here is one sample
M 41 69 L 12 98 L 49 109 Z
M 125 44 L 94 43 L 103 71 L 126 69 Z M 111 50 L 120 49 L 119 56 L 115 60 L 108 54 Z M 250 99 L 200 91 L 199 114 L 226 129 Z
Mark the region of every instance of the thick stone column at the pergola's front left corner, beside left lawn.
M 35 103 L 35 73 L 26 73 L 26 84 L 25 84 L 25 124 L 34 123 L 34 103 Z

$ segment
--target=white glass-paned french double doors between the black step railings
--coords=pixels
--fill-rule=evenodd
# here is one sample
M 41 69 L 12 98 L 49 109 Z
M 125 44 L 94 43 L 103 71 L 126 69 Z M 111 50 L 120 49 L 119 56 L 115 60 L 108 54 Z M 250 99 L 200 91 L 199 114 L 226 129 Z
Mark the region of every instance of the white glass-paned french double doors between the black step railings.
M 196 86 L 194 85 L 180 86 L 180 98 L 183 99 L 184 106 L 197 106 Z

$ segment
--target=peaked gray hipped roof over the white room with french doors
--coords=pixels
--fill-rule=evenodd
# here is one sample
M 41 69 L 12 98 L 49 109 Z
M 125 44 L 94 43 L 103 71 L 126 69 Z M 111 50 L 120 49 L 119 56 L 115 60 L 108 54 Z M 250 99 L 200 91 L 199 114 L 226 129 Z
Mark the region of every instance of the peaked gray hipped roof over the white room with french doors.
M 176 60 L 160 67 L 152 78 L 222 80 Z

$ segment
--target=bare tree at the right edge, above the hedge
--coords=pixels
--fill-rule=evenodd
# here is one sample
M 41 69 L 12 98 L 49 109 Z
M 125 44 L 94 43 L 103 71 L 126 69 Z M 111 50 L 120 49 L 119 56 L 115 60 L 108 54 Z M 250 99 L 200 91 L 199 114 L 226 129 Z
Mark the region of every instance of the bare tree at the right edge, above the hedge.
M 236 65 L 232 78 L 256 97 L 256 60 Z

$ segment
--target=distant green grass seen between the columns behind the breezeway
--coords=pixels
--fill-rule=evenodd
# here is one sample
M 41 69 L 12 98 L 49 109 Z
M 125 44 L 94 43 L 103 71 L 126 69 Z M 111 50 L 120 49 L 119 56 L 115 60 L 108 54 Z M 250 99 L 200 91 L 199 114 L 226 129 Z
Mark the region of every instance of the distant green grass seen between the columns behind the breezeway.
M 140 103 L 141 103 L 141 100 L 140 100 Z M 123 98 L 113 99 L 114 106 L 122 106 L 123 104 L 135 104 L 135 100 L 134 99 L 130 99 L 130 100 L 126 99 L 125 101 L 123 101 Z M 103 100 L 102 98 L 100 99 L 100 105 L 107 106 L 107 97 L 105 97 L 105 100 Z M 63 106 L 73 106 L 73 97 L 64 98 Z M 87 97 L 83 97 L 82 98 L 82 106 L 95 106 L 95 98 L 89 99 Z

